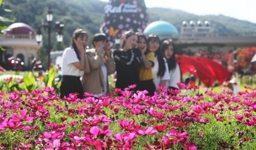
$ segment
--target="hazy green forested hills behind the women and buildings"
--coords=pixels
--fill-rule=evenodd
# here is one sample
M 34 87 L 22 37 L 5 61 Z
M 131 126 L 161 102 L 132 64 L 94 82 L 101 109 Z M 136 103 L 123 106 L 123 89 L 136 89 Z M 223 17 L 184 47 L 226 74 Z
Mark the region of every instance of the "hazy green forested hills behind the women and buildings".
M 60 21 L 65 25 L 63 29 L 63 43 L 58 44 L 52 31 L 52 51 L 63 50 L 71 43 L 72 32 L 76 28 L 85 29 L 89 33 L 89 41 L 95 33 L 99 32 L 104 17 L 106 2 L 99 0 L 3 0 L 7 1 L 5 7 L 11 13 L 0 12 L 3 17 L 15 17 L 15 22 L 29 24 L 37 30 L 42 22 L 46 22 L 46 11 L 50 6 L 53 11 L 53 22 Z M 210 21 L 214 32 L 255 32 L 256 24 L 249 21 L 238 20 L 223 15 L 194 15 L 184 11 L 168 8 L 148 8 L 150 21 L 165 20 L 172 23 L 178 31 L 182 21 Z M 43 40 L 47 41 L 47 31 L 42 30 Z M 44 47 L 47 42 L 44 42 Z M 90 42 L 91 45 L 91 42 Z M 43 54 L 44 47 L 41 48 Z

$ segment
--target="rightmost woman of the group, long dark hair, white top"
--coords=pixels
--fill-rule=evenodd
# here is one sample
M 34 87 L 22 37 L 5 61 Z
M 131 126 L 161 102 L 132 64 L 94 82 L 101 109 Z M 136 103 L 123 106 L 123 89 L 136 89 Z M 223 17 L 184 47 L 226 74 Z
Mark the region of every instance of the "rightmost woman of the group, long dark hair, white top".
M 173 41 L 171 39 L 163 41 L 161 44 L 161 51 L 167 60 L 170 76 L 170 80 L 166 82 L 166 87 L 173 90 L 179 89 L 177 83 L 181 82 L 181 70 L 175 59 L 176 51 L 174 49 Z

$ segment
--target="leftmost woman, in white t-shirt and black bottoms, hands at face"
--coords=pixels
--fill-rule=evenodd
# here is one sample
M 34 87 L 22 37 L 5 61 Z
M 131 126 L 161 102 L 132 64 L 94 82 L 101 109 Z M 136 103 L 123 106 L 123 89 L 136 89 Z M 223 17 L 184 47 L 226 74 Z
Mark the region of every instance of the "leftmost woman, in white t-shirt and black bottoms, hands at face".
M 83 87 L 80 77 L 84 72 L 90 72 L 86 57 L 88 35 L 82 29 L 76 29 L 72 36 L 72 45 L 66 48 L 62 55 L 63 79 L 60 86 L 60 98 L 73 93 L 83 98 Z

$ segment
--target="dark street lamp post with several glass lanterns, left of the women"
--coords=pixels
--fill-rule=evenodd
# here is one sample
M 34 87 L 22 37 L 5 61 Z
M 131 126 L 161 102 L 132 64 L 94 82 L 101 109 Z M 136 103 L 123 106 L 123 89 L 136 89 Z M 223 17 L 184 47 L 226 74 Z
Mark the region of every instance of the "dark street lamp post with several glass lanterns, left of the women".
M 47 23 L 42 23 L 41 25 L 39 25 L 39 27 L 37 28 L 37 35 L 35 36 L 35 39 L 37 41 L 38 44 L 40 44 L 40 42 L 42 42 L 42 32 L 41 32 L 41 28 L 43 27 L 44 29 L 48 29 L 48 69 L 50 68 L 50 38 L 51 38 L 51 29 L 57 29 L 57 41 L 60 43 L 63 40 L 63 28 L 64 28 L 64 24 L 60 24 L 60 21 L 57 21 L 55 25 L 51 25 L 52 23 L 52 19 L 53 19 L 53 15 L 52 15 L 52 10 L 49 7 L 48 11 L 47 11 L 47 15 L 46 15 L 46 20 Z

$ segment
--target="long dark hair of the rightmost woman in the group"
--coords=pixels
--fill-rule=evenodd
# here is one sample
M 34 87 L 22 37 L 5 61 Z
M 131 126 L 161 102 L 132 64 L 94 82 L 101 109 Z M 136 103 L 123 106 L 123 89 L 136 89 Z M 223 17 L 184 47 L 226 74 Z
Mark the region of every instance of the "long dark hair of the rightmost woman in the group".
M 173 54 L 170 57 L 170 59 L 168 59 L 168 60 L 166 58 L 165 59 L 167 60 L 169 71 L 171 71 L 171 70 L 174 70 L 176 68 L 176 59 L 175 59 L 176 50 L 175 50 L 175 47 L 174 47 L 173 40 L 172 39 L 164 40 L 163 43 L 161 44 L 161 51 L 162 51 L 163 54 L 165 54 L 165 50 L 166 50 L 166 48 L 168 48 L 169 45 L 173 46 Z

